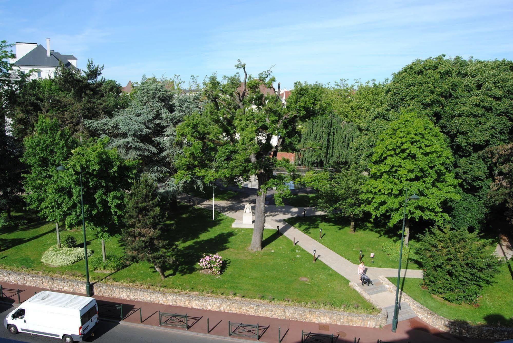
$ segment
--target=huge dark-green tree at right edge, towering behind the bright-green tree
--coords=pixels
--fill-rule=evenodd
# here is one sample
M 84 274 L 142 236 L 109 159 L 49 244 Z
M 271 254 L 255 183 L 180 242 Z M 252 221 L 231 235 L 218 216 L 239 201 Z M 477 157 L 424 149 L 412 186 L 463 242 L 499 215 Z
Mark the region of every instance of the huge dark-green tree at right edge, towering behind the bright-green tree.
M 461 197 L 452 202 L 458 227 L 481 228 L 493 179 L 490 156 L 480 152 L 511 141 L 513 62 L 461 57 L 418 59 L 393 75 L 385 108 L 417 111 L 449 138 Z

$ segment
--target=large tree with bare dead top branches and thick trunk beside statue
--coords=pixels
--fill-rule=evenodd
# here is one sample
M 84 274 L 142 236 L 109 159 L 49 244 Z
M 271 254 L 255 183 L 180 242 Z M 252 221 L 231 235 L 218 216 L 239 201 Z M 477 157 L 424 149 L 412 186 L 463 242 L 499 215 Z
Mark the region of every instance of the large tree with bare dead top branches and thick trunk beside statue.
M 179 176 L 184 180 L 199 177 L 207 183 L 217 178 L 240 183 L 256 175 L 259 189 L 250 249 L 259 251 L 267 190 L 277 187 L 282 194 L 288 191 L 285 182 L 290 175 L 274 175 L 273 171 L 290 164 L 276 157 L 290 143 L 288 139 L 297 135 L 300 115 L 283 106 L 270 70 L 253 78 L 240 60 L 235 68 L 242 70 L 242 79 L 236 73 L 222 80 L 216 75 L 205 80 L 203 92 L 208 104 L 203 113 L 186 116 L 177 127 L 184 142 Z M 280 195 L 275 199 L 280 203 Z

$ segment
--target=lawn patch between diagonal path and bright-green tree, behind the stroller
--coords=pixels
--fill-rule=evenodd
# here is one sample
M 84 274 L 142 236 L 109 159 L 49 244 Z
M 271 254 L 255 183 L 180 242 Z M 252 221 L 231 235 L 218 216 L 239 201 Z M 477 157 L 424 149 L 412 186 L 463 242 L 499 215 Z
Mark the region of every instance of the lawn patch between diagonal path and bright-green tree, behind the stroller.
M 286 221 L 352 263 L 359 263 L 360 250 L 362 250 L 362 260 L 366 266 L 398 267 L 398 260 L 388 257 L 381 247 L 385 241 L 396 238 L 393 232 L 374 227 L 369 223 L 357 223 L 356 232 L 351 233 L 348 222 L 340 222 L 337 218 L 329 216 L 292 217 Z M 319 229 L 322 229 L 322 239 L 319 239 Z M 401 236 L 397 234 L 397 239 L 400 238 Z M 370 258 L 371 253 L 374 253 L 373 263 Z M 402 268 L 419 269 L 419 266 L 410 259 L 407 265 L 403 263 Z

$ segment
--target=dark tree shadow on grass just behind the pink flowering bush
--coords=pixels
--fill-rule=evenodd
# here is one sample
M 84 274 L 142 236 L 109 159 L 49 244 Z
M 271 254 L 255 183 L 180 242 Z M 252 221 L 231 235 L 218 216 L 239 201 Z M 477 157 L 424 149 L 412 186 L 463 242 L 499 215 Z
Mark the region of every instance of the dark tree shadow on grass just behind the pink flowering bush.
M 228 249 L 227 244 L 234 235 L 234 232 L 223 232 L 211 238 L 195 240 L 188 246 L 179 248 L 175 262 L 177 267 L 171 275 L 193 273 L 203 254 L 215 254 Z

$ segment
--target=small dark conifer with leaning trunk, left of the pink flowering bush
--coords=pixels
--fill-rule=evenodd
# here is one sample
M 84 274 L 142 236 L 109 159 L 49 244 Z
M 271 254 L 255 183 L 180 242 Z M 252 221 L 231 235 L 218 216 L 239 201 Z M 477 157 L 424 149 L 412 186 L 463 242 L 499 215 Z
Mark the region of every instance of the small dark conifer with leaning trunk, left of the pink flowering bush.
M 162 279 L 173 261 L 174 247 L 164 238 L 163 217 L 159 208 L 157 185 L 147 175 L 134 182 L 125 198 L 126 228 L 122 239 L 125 253 L 131 261 L 151 263 Z

